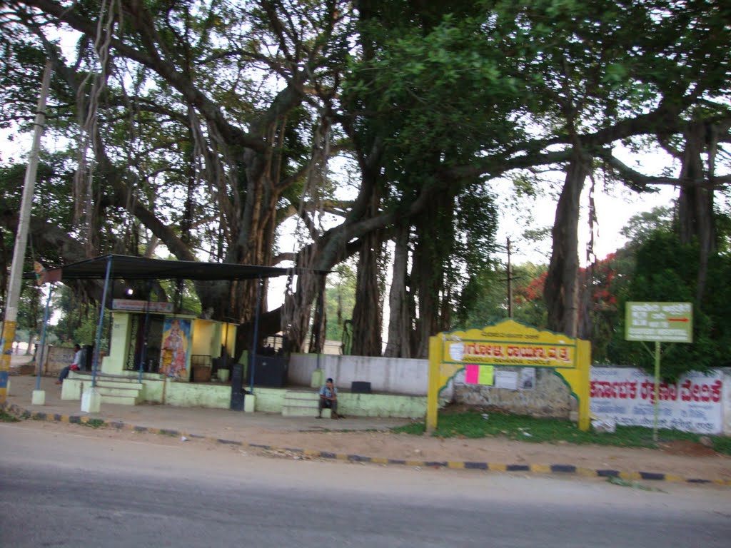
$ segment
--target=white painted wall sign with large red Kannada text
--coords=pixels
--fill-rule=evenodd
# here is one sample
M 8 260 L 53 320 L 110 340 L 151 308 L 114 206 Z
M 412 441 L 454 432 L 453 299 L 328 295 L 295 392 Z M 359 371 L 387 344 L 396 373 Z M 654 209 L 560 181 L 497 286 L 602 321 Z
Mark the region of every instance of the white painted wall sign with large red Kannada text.
M 692 371 L 677 384 L 659 386 L 658 426 L 718 434 L 723 429 L 723 374 Z M 635 368 L 591 368 L 591 415 L 618 425 L 652 427 L 655 383 Z

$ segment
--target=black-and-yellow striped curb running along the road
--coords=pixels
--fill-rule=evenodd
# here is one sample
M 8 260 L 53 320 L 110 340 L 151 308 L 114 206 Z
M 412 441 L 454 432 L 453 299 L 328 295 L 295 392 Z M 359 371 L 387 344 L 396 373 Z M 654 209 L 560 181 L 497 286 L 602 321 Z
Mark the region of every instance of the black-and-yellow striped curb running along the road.
M 676 476 L 675 474 L 662 472 L 636 471 L 626 472 L 609 469 L 582 468 L 580 466 L 570 464 L 507 464 L 507 463 L 486 463 L 477 461 L 461 461 L 461 460 L 405 460 L 391 459 L 386 457 L 369 457 L 361 454 L 335 453 L 329 451 L 319 451 L 315 449 L 300 449 L 298 447 L 277 447 L 266 444 L 249 443 L 238 440 L 228 440 L 224 438 L 216 438 L 212 436 L 198 435 L 188 433 L 183 430 L 172 430 L 167 428 L 154 428 L 140 425 L 130 425 L 126 422 L 108 421 L 105 419 L 91 418 L 81 415 L 63 415 L 53 413 L 32 413 L 27 409 L 21 408 L 15 404 L 4 403 L 0 406 L 10 414 L 18 416 L 20 419 L 42 420 L 46 422 L 61 422 L 68 424 L 87 425 L 91 423 L 94 427 L 112 427 L 117 430 L 130 430 L 140 433 L 151 433 L 159 435 L 167 435 L 171 437 L 186 437 L 190 439 L 199 439 L 205 441 L 213 441 L 217 444 L 235 445 L 249 447 L 251 449 L 260 449 L 271 452 L 288 452 L 295 455 L 301 455 L 311 459 L 323 460 L 340 460 L 349 463 L 369 463 L 377 465 L 397 465 L 409 466 L 412 468 L 448 468 L 451 470 L 480 470 L 489 472 L 525 472 L 535 474 L 554 474 L 593 477 L 593 478 L 617 478 L 626 481 L 650 480 L 659 482 L 689 483 L 689 484 L 715 484 L 731 486 L 731 479 L 701 479 L 701 478 L 685 478 Z

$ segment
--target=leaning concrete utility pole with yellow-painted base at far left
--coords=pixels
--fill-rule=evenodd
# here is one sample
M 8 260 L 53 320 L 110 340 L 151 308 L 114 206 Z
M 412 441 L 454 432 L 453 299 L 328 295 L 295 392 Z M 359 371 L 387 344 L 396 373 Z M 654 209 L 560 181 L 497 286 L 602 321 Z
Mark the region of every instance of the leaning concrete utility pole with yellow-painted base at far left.
M 31 221 L 31 205 L 33 205 L 33 195 L 35 192 L 41 136 L 45 127 L 45 104 L 49 87 L 50 61 L 46 61 L 45 70 L 43 71 L 41 94 L 38 98 L 38 108 L 36 110 L 31 156 L 28 161 L 28 168 L 26 169 L 26 179 L 23 182 L 23 199 L 20 202 L 18 231 L 15 233 L 15 248 L 12 251 L 10 281 L 7 287 L 7 304 L 5 305 L 5 318 L 2 324 L 2 339 L 0 340 L 0 347 L 2 348 L 2 357 L 0 359 L 0 405 L 5 403 L 7 399 L 10 354 L 12 353 L 13 340 L 15 340 L 15 326 L 18 324 L 20 282 L 23 279 L 23 263 L 26 260 L 26 243 L 28 243 L 28 229 Z

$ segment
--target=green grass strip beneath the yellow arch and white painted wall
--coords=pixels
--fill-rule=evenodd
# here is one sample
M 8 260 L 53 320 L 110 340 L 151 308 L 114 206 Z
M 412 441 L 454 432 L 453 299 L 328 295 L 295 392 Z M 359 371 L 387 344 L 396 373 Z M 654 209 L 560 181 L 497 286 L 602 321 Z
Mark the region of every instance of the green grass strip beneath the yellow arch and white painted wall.
M 533 416 L 502 412 L 470 410 L 445 411 L 439 414 L 439 426 L 433 433 L 439 438 L 507 438 L 535 443 L 596 444 L 618 447 L 655 447 L 652 429 L 639 426 L 618 426 L 615 433 L 582 432 L 569 420 L 539 419 Z M 395 427 L 396 433 L 422 435 L 424 422 Z M 697 442 L 701 434 L 678 430 L 658 430 L 658 441 L 686 440 Z M 705 435 L 713 442 L 713 450 L 731 454 L 731 439 Z

